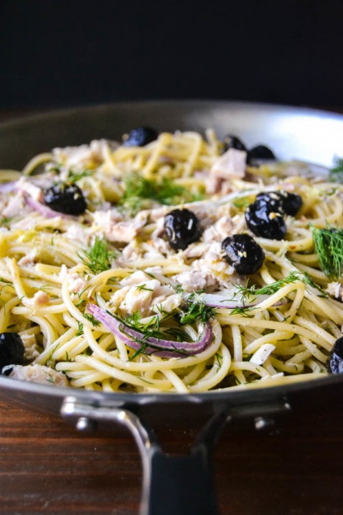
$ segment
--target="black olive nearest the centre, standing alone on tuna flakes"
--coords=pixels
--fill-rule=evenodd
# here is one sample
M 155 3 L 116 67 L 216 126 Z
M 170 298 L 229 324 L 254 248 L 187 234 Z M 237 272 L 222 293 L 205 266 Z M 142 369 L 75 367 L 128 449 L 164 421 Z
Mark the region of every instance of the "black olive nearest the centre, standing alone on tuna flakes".
M 198 217 L 189 209 L 174 209 L 165 216 L 167 240 L 175 250 L 185 250 L 189 244 L 199 240 L 201 229 Z

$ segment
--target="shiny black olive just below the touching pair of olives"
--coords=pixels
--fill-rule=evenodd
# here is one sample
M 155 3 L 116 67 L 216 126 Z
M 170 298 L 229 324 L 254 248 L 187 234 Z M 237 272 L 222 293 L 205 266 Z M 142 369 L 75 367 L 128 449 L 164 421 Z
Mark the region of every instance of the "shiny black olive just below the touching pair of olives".
M 255 273 L 264 260 L 262 247 L 248 234 L 234 234 L 222 241 L 224 259 L 243 275 Z

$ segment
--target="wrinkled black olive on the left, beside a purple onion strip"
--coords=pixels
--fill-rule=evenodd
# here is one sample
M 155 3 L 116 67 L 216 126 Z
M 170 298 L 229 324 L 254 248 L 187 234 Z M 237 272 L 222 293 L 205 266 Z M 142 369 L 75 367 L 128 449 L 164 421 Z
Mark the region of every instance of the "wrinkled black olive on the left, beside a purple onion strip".
M 44 203 L 58 213 L 71 215 L 80 215 L 87 207 L 80 187 L 69 183 L 57 183 L 45 190 Z

